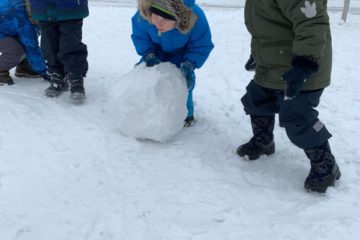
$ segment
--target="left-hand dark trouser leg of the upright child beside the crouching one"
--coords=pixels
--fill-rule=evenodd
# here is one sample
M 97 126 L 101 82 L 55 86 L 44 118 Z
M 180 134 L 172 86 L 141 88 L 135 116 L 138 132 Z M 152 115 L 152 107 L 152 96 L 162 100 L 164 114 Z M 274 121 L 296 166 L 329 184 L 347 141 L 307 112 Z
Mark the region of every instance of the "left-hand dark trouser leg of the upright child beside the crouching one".
M 64 65 L 58 59 L 59 53 L 59 25 L 57 22 L 40 22 L 41 49 L 46 59 L 48 72 L 64 76 Z

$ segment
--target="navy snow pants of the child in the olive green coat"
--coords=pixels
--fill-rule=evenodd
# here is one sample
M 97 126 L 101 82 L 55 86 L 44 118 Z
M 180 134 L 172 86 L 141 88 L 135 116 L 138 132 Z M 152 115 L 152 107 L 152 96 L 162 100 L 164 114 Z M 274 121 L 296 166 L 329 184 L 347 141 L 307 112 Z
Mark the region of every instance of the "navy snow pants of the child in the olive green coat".
M 241 102 L 246 114 L 274 116 L 278 113 L 280 127 L 285 128 L 290 141 L 305 149 L 320 146 L 331 137 L 315 110 L 323 90 L 301 91 L 285 101 L 284 91 L 264 88 L 251 81 Z

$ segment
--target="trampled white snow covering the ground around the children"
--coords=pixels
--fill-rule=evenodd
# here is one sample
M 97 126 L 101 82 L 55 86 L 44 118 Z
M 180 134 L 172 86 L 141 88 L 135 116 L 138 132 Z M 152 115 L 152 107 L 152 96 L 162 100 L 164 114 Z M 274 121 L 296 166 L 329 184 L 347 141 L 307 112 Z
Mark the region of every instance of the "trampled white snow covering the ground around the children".
M 206 10 L 216 47 L 197 71 L 195 126 L 166 144 L 112 128 L 109 92 L 139 60 L 133 13 L 92 5 L 84 105 L 46 98 L 40 80 L 0 87 L 0 239 L 359 239 L 360 16 L 341 24 L 330 13 L 333 79 L 319 110 L 343 176 L 320 195 L 303 189 L 308 160 L 278 126 L 275 155 L 235 154 L 251 136 L 240 103 L 251 79 L 242 9 Z

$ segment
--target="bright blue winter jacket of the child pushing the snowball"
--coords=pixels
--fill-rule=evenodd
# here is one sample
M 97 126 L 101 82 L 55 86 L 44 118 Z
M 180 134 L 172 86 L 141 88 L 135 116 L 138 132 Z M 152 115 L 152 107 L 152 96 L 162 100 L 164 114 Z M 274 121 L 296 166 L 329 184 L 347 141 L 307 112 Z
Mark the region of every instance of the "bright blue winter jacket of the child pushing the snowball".
M 132 41 L 136 52 L 145 57 L 155 53 L 163 62 L 171 62 L 180 66 L 182 62 L 190 61 L 196 68 L 200 68 L 208 58 L 214 45 L 211 41 L 211 31 L 206 16 L 194 0 L 184 3 L 197 15 L 197 22 L 187 34 L 178 29 L 158 34 L 155 25 L 144 19 L 140 12 L 132 18 Z

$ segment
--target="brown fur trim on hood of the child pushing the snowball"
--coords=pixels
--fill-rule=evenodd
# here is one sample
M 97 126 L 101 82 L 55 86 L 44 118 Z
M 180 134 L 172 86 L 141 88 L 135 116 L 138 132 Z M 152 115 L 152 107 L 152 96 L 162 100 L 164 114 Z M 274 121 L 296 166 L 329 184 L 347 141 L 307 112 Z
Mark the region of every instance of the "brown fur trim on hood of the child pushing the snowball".
M 186 34 L 194 27 L 197 16 L 192 11 L 195 4 L 194 0 L 138 0 L 138 8 L 143 18 L 151 23 L 150 7 L 154 1 L 162 1 L 166 9 L 174 13 L 176 18 L 176 28 Z

